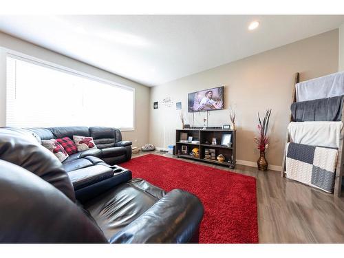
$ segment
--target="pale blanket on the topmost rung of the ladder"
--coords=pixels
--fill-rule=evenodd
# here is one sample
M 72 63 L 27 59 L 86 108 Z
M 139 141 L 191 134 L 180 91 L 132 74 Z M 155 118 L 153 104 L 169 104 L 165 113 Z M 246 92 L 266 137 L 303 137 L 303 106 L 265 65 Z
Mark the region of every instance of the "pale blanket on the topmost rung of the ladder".
M 344 95 L 344 72 L 297 83 L 297 102 Z

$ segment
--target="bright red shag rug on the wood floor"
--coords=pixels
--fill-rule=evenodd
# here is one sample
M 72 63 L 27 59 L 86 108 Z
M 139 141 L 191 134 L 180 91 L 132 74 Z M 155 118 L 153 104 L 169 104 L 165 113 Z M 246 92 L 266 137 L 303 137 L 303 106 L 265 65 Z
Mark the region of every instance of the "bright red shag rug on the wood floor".
M 258 243 L 255 178 L 153 154 L 120 166 L 165 191 L 178 188 L 200 198 L 200 243 Z

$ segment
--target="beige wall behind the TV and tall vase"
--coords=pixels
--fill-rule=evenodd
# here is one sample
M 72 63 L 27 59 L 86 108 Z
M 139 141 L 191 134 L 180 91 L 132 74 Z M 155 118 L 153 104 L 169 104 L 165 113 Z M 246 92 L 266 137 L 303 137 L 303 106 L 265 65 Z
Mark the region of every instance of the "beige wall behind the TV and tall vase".
M 209 112 L 209 126 L 229 124 L 228 107 L 237 110 L 237 160 L 254 166 L 259 153 L 253 142 L 257 133 L 257 112 L 272 109 L 268 162 L 279 169 L 283 155 L 286 128 L 290 114 L 294 74 L 307 80 L 338 71 L 338 30 L 332 30 L 255 56 L 186 76 L 151 89 L 149 141 L 166 148 L 175 142 L 180 129 L 178 113 L 173 108 L 153 109 L 153 102 L 165 97 L 182 102 L 186 123 L 187 94 L 225 85 L 225 109 Z M 195 114 L 195 126 L 203 125 L 206 112 Z

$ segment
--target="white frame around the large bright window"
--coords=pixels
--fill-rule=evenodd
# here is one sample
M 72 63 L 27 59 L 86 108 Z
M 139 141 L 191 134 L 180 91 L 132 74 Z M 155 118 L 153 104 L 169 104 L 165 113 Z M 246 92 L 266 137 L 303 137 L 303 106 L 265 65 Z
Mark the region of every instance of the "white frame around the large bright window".
M 136 120 L 135 119 L 136 118 L 135 100 L 136 100 L 136 92 L 135 92 L 135 88 L 134 87 L 123 85 L 121 83 L 115 83 L 112 80 L 107 80 L 105 78 L 100 78 L 100 77 L 94 76 L 92 74 L 87 74 L 85 72 L 80 72 L 80 71 L 78 71 L 76 69 L 65 67 L 63 65 L 58 65 L 58 64 L 52 63 L 50 61 L 45 61 L 45 60 L 42 60 L 40 58 L 36 58 L 34 56 L 28 56 L 26 54 L 22 54 L 22 53 L 15 52 L 15 51 L 12 51 L 12 50 L 6 50 L 6 59 L 8 57 L 17 59 L 19 61 L 24 61 L 24 62 L 27 62 L 27 63 L 32 63 L 34 65 L 40 65 L 41 67 L 46 67 L 46 68 L 49 68 L 49 69 L 54 69 L 54 70 L 56 70 L 58 72 L 64 72 L 64 73 L 67 73 L 67 74 L 72 74 L 73 76 L 78 76 L 78 77 L 81 77 L 81 78 L 86 78 L 88 80 L 94 80 L 94 81 L 96 81 L 98 83 L 104 83 L 104 84 L 109 85 L 111 87 L 118 87 L 120 89 L 128 89 L 128 90 L 130 90 L 131 92 L 133 92 L 133 127 L 125 127 L 125 128 L 118 127 L 118 128 L 120 129 L 120 131 L 135 131 L 135 120 Z M 80 61 L 76 61 L 76 62 L 80 62 Z M 88 65 L 88 64 L 86 64 L 86 65 Z M 100 69 L 98 67 L 96 67 L 96 68 Z M 7 63 L 6 63 L 6 69 L 7 69 Z M 104 71 L 104 72 L 107 72 L 107 71 Z M 7 87 L 8 87 L 8 82 L 7 82 L 7 78 L 6 78 L 6 92 L 7 92 Z M 7 100 L 8 100 L 8 97 L 7 97 L 7 93 L 6 93 L 6 103 L 7 103 Z M 7 109 L 7 104 L 6 104 L 6 109 Z M 7 110 L 6 110 L 6 123 L 7 123 L 7 116 L 8 116 L 8 113 L 7 113 Z

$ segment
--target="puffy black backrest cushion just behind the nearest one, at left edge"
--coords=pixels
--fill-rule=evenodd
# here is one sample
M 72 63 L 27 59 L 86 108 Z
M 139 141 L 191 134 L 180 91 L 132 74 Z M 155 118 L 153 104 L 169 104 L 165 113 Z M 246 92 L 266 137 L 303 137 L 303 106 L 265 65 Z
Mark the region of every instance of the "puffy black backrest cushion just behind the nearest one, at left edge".
M 75 193 L 63 165 L 32 134 L 19 128 L 0 129 L 0 159 L 27 169 L 55 186 L 75 202 Z

